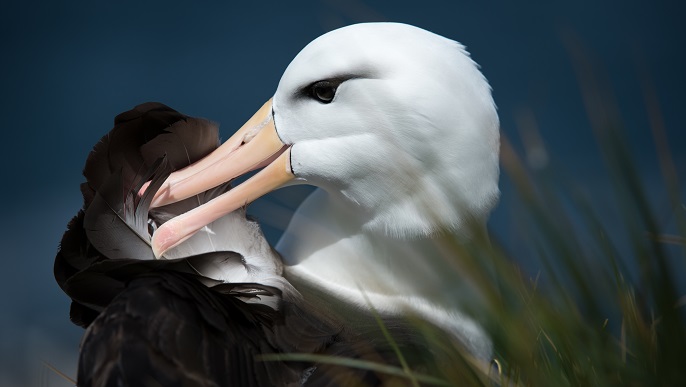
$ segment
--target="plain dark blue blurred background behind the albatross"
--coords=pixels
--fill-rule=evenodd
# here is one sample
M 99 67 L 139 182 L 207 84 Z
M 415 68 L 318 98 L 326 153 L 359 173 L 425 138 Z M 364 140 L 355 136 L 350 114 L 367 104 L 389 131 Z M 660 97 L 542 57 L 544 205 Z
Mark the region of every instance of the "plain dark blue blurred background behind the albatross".
M 685 14 L 680 2 L 648 0 L 3 4 L 0 385 L 68 385 L 43 362 L 75 376 L 83 332 L 69 322 L 52 264 L 81 206 L 85 158 L 119 112 L 160 101 L 220 123 L 226 139 L 312 39 L 357 22 L 409 23 L 467 46 L 493 86 L 503 133 L 532 169 L 554 163 L 602 203 L 609 183 L 581 91 L 592 68 L 621 113 L 654 210 L 669 223 L 648 106 L 659 107 L 683 180 Z M 515 232 L 521 209 L 507 178 L 502 185 L 490 227 L 525 250 Z M 308 192 L 283 190 L 251 207 L 272 242 Z M 525 256 L 521 264 L 536 272 Z

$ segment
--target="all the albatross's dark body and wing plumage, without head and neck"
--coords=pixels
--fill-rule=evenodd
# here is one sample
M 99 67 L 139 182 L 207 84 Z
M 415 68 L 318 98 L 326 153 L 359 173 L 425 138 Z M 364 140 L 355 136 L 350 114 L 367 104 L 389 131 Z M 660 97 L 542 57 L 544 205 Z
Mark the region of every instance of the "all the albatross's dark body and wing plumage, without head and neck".
M 398 362 L 374 319 L 351 328 L 304 302 L 281 277 L 278 255 L 260 247 L 266 242 L 243 215 L 229 215 L 235 233 L 222 238 L 239 233 L 256 238 L 243 243 L 251 251 L 225 249 L 212 233 L 201 232 L 199 242 L 189 240 L 180 257 L 154 259 L 149 243 L 155 227 L 229 186 L 149 212 L 152 194 L 171 171 L 217 145 L 216 125 L 146 103 L 117 116 L 89 155 L 81 187 L 84 207 L 69 223 L 55 258 L 55 278 L 72 298 L 70 317 L 87 328 L 78 384 L 376 385 L 386 380 L 359 369 L 258 358 L 311 353 Z M 148 180 L 152 188 L 139 197 Z M 266 265 L 246 260 L 256 252 Z M 234 275 L 251 280 L 234 281 Z M 385 324 L 405 354 L 430 359 L 411 330 L 392 319 Z

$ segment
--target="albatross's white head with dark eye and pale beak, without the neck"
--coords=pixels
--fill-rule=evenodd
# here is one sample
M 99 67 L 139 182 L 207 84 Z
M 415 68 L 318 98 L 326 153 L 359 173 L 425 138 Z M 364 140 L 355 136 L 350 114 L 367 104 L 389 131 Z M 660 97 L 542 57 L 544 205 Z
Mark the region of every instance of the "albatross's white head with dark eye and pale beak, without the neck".
M 344 27 L 305 47 L 274 97 L 215 153 L 172 175 L 154 204 L 265 168 L 167 222 L 153 246 L 159 255 L 294 182 L 339 197 L 367 231 L 460 231 L 497 201 L 498 147 L 490 87 L 462 45 L 404 24 Z

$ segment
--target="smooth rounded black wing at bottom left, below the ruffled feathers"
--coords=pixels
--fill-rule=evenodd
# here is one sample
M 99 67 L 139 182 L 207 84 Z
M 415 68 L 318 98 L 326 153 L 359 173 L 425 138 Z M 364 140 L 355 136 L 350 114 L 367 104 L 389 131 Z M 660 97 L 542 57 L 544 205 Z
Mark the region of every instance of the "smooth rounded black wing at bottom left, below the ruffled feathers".
M 306 364 L 256 359 L 278 351 L 264 335 L 278 321 L 271 308 L 223 297 L 184 274 L 141 276 L 88 329 L 79 385 L 299 384 Z

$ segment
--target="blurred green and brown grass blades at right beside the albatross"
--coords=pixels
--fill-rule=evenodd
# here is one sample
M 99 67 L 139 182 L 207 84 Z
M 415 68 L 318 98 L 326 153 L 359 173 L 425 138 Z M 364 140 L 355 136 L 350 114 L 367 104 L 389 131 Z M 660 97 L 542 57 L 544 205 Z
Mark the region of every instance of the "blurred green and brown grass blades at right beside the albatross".
M 523 257 L 493 237 L 467 248 L 455 241 L 485 295 L 468 310 L 492 335 L 497 366 L 485 370 L 455 351 L 439 371 L 446 385 L 686 385 L 686 206 L 657 97 L 646 82 L 655 143 L 640 151 L 657 154 L 665 200 L 657 204 L 667 217 L 649 200 L 612 96 L 575 59 L 614 208 L 554 167 L 532 171 L 503 139 L 504 174 L 521 207 L 517 232 L 540 270 L 523 272 L 515 264 Z

